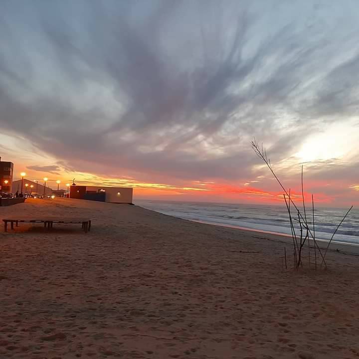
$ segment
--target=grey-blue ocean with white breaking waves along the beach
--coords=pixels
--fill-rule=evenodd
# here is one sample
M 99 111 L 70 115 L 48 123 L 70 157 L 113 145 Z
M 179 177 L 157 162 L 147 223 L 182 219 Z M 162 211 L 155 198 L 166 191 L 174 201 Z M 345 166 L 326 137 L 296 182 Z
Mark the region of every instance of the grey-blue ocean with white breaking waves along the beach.
M 192 221 L 291 235 L 285 204 L 281 206 L 160 200 L 137 200 L 135 204 Z M 348 209 L 316 208 L 314 210 L 316 238 L 329 240 Z M 312 218 L 311 207 L 307 209 L 307 218 Z M 312 223 L 311 220 L 308 222 Z M 310 228 L 312 229 L 313 226 L 311 225 Z M 298 226 L 296 232 L 299 232 Z M 333 241 L 359 244 L 358 209 L 352 209 Z

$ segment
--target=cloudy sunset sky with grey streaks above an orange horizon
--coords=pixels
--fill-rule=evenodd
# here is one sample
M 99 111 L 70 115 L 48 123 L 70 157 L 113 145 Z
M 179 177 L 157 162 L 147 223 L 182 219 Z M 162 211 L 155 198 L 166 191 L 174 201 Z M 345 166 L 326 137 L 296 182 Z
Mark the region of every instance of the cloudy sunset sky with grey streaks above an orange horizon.
M 357 0 L 2 0 L 14 177 L 136 199 L 359 205 Z M 101 183 L 101 184 L 100 184 Z

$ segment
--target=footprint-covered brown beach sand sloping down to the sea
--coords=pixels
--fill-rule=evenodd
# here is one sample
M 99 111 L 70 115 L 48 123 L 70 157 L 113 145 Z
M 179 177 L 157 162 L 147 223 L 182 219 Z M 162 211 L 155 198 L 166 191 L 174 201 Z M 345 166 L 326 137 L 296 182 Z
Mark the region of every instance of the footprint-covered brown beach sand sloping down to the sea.
M 32 199 L 0 219 L 0 358 L 359 358 L 359 258 L 282 267 L 280 238 L 138 206 Z M 288 261 L 290 261 L 288 259 Z

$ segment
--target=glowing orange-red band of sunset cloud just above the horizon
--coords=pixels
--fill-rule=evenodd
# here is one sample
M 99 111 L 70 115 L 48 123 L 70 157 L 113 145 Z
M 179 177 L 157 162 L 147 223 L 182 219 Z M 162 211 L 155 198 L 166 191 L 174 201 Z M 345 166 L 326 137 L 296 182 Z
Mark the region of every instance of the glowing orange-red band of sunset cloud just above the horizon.
M 17 165 L 16 174 L 19 169 L 25 168 L 21 165 Z M 40 170 L 43 170 L 41 168 Z M 125 186 L 134 188 L 135 198 L 171 198 L 179 200 L 202 200 L 202 201 L 228 201 L 228 202 L 253 202 L 253 203 L 283 203 L 283 191 L 272 191 L 262 189 L 261 183 L 262 178 L 257 177 L 255 180 L 241 181 L 241 185 L 235 185 L 231 183 L 216 183 L 214 181 L 189 181 L 181 183 L 169 182 L 157 183 L 157 182 L 146 182 L 134 179 L 132 177 L 113 178 L 113 177 L 101 177 L 90 173 L 71 173 L 62 171 L 59 176 L 54 176 L 48 172 L 34 171 L 33 167 L 27 166 L 27 178 L 38 179 L 39 183 L 42 182 L 44 176 L 49 177 L 48 184 L 50 187 L 55 188 L 56 179 L 61 180 L 60 187 L 65 188 L 65 183 L 72 182 L 75 178 L 77 184 L 92 184 L 92 185 L 105 185 L 105 186 Z M 18 176 L 15 176 L 18 177 Z M 260 179 L 261 181 L 258 181 Z M 253 186 L 255 184 L 255 186 Z M 344 184 L 331 182 L 324 180 L 312 181 L 306 183 L 307 188 L 342 188 Z M 349 188 L 348 188 L 349 187 Z M 359 190 L 358 184 L 346 186 L 347 190 Z M 336 192 L 333 192 L 336 193 Z M 302 201 L 302 194 L 299 188 L 292 189 L 291 191 L 292 200 L 296 202 Z M 304 193 L 305 201 L 311 203 L 312 194 L 310 192 Z M 324 193 L 322 190 L 314 190 L 315 203 L 319 204 L 331 204 L 335 203 L 336 200 L 342 199 L 339 194 L 329 195 Z M 351 198 L 348 198 L 351 200 Z

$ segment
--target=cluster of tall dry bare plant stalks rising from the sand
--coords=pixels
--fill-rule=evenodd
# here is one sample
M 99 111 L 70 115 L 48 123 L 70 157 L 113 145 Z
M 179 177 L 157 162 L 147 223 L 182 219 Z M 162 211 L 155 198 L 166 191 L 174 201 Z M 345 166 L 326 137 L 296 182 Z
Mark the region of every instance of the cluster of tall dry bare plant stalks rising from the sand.
M 270 159 L 267 157 L 267 153 L 266 153 L 266 149 L 263 148 L 263 144 L 261 145 L 261 147 L 259 147 L 258 143 L 256 142 L 255 138 L 253 139 L 253 141 L 251 142 L 252 144 L 252 149 L 253 151 L 256 153 L 256 155 L 264 161 L 264 163 L 267 165 L 267 167 L 269 168 L 270 172 L 272 173 L 272 175 L 274 176 L 274 178 L 277 180 L 277 182 L 279 183 L 279 185 L 281 186 L 281 188 L 284 190 L 284 201 L 286 203 L 287 206 L 287 211 L 288 211 L 288 216 L 289 216 L 289 222 L 290 222 L 290 227 L 291 227 L 291 233 L 292 233 L 292 239 L 293 239 L 293 254 L 294 254 L 294 262 L 295 262 L 295 266 L 296 268 L 299 268 L 300 266 L 303 266 L 302 263 L 302 250 L 303 247 L 305 245 L 306 242 L 308 242 L 308 260 L 309 260 L 309 267 L 311 266 L 311 253 L 310 253 L 310 243 L 309 243 L 309 239 L 310 237 L 312 238 L 313 242 L 314 242 L 314 258 L 315 258 L 315 269 L 317 270 L 317 250 L 322 258 L 322 262 L 321 262 L 321 267 L 324 264 L 325 267 L 327 268 L 327 263 L 325 261 L 325 257 L 328 251 L 328 248 L 334 238 L 334 235 L 337 233 L 339 227 L 341 226 L 341 224 L 343 223 L 343 221 L 345 220 L 345 218 L 347 217 L 347 215 L 349 214 L 349 212 L 351 211 L 351 209 L 353 208 L 353 206 L 348 210 L 348 212 L 346 213 L 346 215 L 343 217 L 343 219 L 341 220 L 341 222 L 338 224 L 336 230 L 334 231 L 332 238 L 330 239 L 330 241 L 328 242 L 328 246 L 325 249 L 324 254 L 322 253 L 322 250 L 320 249 L 316 238 L 315 238 L 315 222 L 314 222 L 314 197 L 312 194 L 312 217 L 313 217 L 313 232 L 312 230 L 309 228 L 308 225 L 308 220 L 307 220 L 307 212 L 306 212 L 306 207 L 305 207 L 305 198 L 304 198 L 304 186 L 303 186 L 303 166 L 302 166 L 302 200 L 303 200 L 303 214 L 301 213 L 301 211 L 299 210 L 299 208 L 297 207 L 297 205 L 294 203 L 292 197 L 291 197 L 291 191 L 289 189 L 289 192 L 284 188 L 282 182 L 280 181 L 280 179 L 278 179 L 277 175 L 275 174 L 272 165 L 270 163 Z M 291 214 L 291 203 L 294 206 L 294 208 L 297 211 L 297 218 L 293 218 L 292 214 Z M 299 228 L 300 228 L 300 237 L 298 238 L 296 235 L 296 231 L 294 228 L 294 222 L 293 221 L 297 221 L 299 224 Z M 305 234 L 304 234 L 305 231 Z M 299 240 L 299 242 L 298 242 Z

